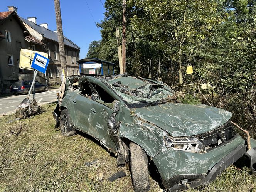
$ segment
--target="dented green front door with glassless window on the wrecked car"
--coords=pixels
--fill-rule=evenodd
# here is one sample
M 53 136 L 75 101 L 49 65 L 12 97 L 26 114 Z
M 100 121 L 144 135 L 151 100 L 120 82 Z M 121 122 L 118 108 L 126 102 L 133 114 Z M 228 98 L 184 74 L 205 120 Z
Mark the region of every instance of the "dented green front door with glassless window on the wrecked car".
M 97 96 L 92 97 L 89 106 L 88 133 L 99 139 L 107 147 L 116 151 L 116 145 L 111 140 L 108 132 L 108 119 L 114 112 L 113 105 L 115 99 L 98 84 L 91 83 L 91 85 L 97 91 Z

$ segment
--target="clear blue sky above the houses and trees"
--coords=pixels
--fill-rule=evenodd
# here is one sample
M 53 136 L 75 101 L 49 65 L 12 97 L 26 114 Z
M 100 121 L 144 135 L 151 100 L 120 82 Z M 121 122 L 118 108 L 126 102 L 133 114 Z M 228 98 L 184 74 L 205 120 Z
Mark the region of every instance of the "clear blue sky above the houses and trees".
M 60 0 L 64 35 L 80 48 L 80 59 L 86 57 L 89 43 L 101 39 L 100 29 L 95 22 L 104 18 L 105 0 Z M 56 30 L 54 0 L 1 0 L 0 12 L 7 11 L 7 6 L 15 6 L 20 17 L 37 17 L 37 24 L 48 23 L 50 30 Z M 94 22 L 95 21 L 95 22 Z

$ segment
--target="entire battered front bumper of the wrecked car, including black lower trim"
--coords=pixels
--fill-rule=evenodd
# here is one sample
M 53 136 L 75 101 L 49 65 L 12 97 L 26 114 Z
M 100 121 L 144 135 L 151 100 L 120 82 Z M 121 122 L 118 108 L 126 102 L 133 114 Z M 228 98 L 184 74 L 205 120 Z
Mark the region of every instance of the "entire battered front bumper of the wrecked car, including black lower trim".
M 256 146 L 255 140 L 252 148 L 246 152 L 247 146 L 240 136 L 236 135 L 231 140 L 223 143 L 205 153 L 189 153 L 175 151 L 168 148 L 166 151 L 153 157 L 158 172 L 165 188 L 169 190 L 187 189 L 212 182 L 217 175 L 236 162 L 243 155 L 250 160 L 250 168 L 255 168 Z M 253 169 L 252 173 L 256 173 Z

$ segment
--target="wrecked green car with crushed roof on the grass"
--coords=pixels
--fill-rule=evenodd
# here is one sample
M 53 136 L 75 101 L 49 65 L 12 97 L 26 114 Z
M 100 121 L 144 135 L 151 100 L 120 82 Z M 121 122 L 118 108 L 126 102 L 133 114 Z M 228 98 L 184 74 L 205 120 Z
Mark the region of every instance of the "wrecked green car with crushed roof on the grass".
M 163 186 L 187 189 L 212 182 L 242 158 L 256 173 L 256 141 L 251 149 L 236 135 L 223 109 L 175 103 L 175 92 L 147 77 L 67 76 L 53 112 L 62 135 L 76 130 L 115 153 L 117 164 L 130 161 L 135 191 L 150 189 L 153 160 Z

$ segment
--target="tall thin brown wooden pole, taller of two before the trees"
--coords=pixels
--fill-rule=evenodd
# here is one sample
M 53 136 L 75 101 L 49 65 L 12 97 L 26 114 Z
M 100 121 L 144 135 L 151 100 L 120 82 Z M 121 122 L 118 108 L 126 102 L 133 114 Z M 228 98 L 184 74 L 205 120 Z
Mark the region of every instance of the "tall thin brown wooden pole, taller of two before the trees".
M 123 72 L 125 72 L 126 67 L 126 39 L 125 39 L 125 30 L 126 30 L 126 0 L 123 0 L 123 33 L 122 33 L 122 62 L 123 62 Z

